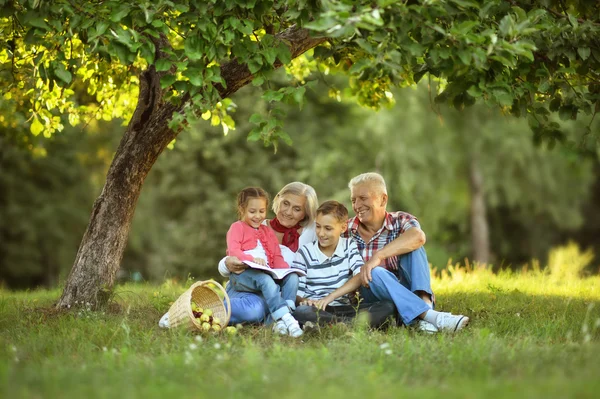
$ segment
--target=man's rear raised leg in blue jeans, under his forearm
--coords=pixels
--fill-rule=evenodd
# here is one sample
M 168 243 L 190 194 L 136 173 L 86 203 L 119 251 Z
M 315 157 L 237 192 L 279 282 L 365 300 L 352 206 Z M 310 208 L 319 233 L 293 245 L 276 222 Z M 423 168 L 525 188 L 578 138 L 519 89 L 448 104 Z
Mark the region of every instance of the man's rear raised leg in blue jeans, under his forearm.
M 431 273 L 425 248 L 421 247 L 398 256 L 398 265 L 397 273 L 400 283 L 433 307 Z

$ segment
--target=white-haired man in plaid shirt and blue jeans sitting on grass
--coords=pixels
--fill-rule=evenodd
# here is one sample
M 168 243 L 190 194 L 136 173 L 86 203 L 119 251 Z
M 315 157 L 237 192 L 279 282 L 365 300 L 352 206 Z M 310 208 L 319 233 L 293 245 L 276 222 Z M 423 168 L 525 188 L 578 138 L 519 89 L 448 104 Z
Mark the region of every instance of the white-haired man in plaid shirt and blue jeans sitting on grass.
M 361 269 L 364 299 L 391 300 L 405 324 L 416 323 L 426 332 L 466 326 L 466 316 L 433 310 L 425 233 L 414 216 L 386 211 L 383 177 L 363 173 L 350 180 L 348 187 L 356 216 L 348 220 L 346 236 L 356 242 L 365 261 Z

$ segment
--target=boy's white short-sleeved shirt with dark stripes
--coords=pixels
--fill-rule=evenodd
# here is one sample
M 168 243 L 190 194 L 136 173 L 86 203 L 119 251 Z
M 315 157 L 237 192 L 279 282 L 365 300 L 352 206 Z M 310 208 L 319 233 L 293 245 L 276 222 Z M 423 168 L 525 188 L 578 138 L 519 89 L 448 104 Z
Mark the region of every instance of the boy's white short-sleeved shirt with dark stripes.
M 296 253 L 292 266 L 306 272 L 306 277 L 300 277 L 298 296 L 315 300 L 325 298 L 357 275 L 363 264 L 356 244 L 348 238 L 340 238 L 329 258 L 319 249 L 318 241 L 306 244 Z M 342 296 L 329 305 L 349 304 L 348 296 Z

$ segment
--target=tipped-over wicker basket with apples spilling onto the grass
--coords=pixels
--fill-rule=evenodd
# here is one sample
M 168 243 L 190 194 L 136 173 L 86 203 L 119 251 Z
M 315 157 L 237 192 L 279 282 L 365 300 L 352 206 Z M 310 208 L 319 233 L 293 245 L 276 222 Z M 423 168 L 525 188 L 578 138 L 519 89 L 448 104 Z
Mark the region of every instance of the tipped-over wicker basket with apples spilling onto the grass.
M 220 294 L 220 295 L 219 295 Z M 227 306 L 223 303 L 227 302 Z M 211 309 L 213 317 L 221 320 L 221 326 L 225 328 L 231 317 L 231 302 L 225 288 L 216 281 L 198 281 L 192 284 L 190 288 L 175 302 L 169 309 L 169 325 L 171 328 L 185 326 L 190 330 L 200 330 L 200 323 L 194 318 L 192 313 L 192 301 L 203 309 Z

